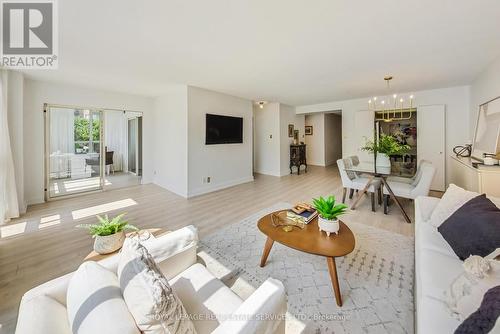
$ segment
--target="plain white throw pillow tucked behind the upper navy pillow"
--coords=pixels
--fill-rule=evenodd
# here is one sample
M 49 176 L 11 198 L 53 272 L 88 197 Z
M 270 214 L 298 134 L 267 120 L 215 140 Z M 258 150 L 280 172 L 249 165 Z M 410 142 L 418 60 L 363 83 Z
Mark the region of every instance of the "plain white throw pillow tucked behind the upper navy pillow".
M 451 183 L 432 212 L 429 222 L 434 227 L 439 227 L 462 205 L 477 196 L 479 196 L 478 193 L 462 189 Z

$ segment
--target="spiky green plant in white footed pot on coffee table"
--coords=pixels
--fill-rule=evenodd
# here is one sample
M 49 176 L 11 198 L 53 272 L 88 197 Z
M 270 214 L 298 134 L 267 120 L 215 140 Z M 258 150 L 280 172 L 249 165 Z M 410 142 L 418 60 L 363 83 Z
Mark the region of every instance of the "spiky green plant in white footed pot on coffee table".
M 344 203 L 335 203 L 335 197 L 319 197 L 313 199 L 313 206 L 318 211 L 318 227 L 320 232 L 325 231 L 327 236 L 330 233 L 339 233 L 339 219 L 347 211 L 347 205 Z

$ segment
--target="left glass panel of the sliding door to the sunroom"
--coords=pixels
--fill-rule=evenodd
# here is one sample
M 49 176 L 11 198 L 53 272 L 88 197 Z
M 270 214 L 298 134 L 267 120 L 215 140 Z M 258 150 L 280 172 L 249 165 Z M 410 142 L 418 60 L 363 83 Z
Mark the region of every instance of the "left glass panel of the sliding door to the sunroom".
M 103 188 L 100 110 L 47 105 L 46 198 Z

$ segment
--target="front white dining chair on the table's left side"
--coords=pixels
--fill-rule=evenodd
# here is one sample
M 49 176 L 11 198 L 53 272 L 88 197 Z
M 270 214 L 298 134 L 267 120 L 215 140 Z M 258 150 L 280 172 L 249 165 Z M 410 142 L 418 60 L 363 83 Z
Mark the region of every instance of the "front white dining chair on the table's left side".
M 342 180 L 342 203 L 345 203 L 345 198 L 347 190 L 349 189 L 349 198 L 354 195 L 354 190 L 363 190 L 366 184 L 370 181 L 369 178 L 364 176 L 358 176 L 356 173 L 348 174 L 346 168 L 352 167 L 352 161 L 350 158 L 337 160 L 337 166 L 339 167 L 340 179 Z M 380 180 L 372 180 L 368 192 L 370 193 L 372 202 L 372 211 L 375 212 L 375 193 L 379 193 L 380 196 Z M 380 200 L 380 198 L 379 198 Z M 379 201 L 380 202 L 380 201 Z

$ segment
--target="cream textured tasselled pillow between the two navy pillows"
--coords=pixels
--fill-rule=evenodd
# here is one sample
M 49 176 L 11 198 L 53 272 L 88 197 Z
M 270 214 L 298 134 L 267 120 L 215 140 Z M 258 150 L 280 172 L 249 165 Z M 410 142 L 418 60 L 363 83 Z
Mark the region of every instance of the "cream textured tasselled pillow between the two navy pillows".
M 500 284 L 499 261 L 472 255 L 464 261 L 464 269 L 445 292 L 448 307 L 460 321 L 479 308 L 489 289 Z

